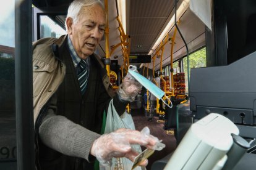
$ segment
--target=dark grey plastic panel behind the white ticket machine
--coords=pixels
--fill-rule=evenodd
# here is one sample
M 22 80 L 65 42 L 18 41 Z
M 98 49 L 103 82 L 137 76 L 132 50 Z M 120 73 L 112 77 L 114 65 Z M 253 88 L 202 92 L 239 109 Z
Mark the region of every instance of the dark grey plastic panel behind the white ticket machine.
M 237 124 L 241 136 L 256 138 L 256 52 L 230 65 L 192 68 L 189 95 L 195 119 L 219 113 Z

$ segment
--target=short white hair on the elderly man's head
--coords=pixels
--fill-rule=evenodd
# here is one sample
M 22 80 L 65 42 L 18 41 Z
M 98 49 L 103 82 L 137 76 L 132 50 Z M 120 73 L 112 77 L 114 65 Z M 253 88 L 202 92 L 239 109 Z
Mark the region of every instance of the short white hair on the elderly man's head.
M 105 10 L 104 4 L 100 0 L 74 0 L 69 5 L 69 9 L 67 10 L 67 18 L 72 18 L 73 23 L 77 23 L 79 20 L 79 14 L 82 7 L 88 7 L 93 6 L 95 4 L 98 4 L 100 7 L 102 7 L 103 10 Z M 65 22 L 66 31 L 67 31 L 67 23 Z

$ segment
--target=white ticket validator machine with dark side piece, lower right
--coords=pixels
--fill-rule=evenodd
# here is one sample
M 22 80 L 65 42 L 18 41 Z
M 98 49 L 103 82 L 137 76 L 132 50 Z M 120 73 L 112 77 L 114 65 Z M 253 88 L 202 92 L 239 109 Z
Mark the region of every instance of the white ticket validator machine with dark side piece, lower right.
M 211 113 L 190 126 L 164 169 L 232 169 L 249 147 L 232 121 Z

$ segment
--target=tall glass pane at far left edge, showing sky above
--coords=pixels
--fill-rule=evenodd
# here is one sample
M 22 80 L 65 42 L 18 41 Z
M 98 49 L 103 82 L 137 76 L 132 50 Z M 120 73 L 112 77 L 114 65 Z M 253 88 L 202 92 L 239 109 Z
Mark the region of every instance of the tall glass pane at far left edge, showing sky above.
M 14 3 L 0 6 L 0 169 L 17 169 Z

